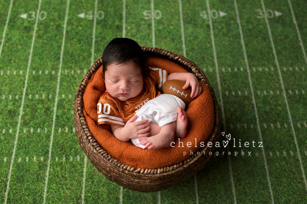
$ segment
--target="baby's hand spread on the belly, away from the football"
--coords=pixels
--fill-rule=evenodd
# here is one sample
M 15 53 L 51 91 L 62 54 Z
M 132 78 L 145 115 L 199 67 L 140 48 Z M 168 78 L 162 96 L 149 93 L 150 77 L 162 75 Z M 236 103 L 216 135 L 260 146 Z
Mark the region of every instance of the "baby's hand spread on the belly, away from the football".
M 137 117 L 137 115 L 134 115 L 123 127 L 122 131 L 125 131 L 129 139 L 147 137 L 149 135 L 148 130 L 150 128 L 150 123 L 147 123 L 147 119 L 133 122 L 135 119 L 137 119 Z

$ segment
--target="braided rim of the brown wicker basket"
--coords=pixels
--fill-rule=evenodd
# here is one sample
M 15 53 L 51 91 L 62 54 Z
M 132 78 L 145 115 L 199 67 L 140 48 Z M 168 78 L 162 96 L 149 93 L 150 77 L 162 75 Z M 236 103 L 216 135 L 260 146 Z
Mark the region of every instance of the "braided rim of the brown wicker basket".
M 213 101 L 213 106 L 214 106 L 214 124 L 212 127 L 212 130 L 210 134 L 208 135 L 208 138 L 204 142 L 204 147 L 200 147 L 197 149 L 197 151 L 191 156 L 185 159 L 184 161 L 181 161 L 180 163 L 177 164 L 172 164 L 166 167 L 162 168 L 156 168 L 156 169 L 141 169 L 141 168 L 134 168 L 131 167 L 127 164 L 123 164 L 116 159 L 114 159 L 111 155 L 109 155 L 105 150 L 102 149 L 102 147 L 96 142 L 94 136 L 91 134 L 89 131 L 89 128 L 87 126 L 87 122 L 85 120 L 84 114 L 83 114 L 83 108 L 84 108 L 84 103 L 83 103 L 83 94 L 84 94 L 84 89 L 87 86 L 88 81 L 90 80 L 92 74 L 102 65 L 102 57 L 99 57 L 94 64 L 91 66 L 91 68 L 87 71 L 87 73 L 84 75 L 81 84 L 78 87 L 78 91 L 75 96 L 75 108 L 74 108 L 74 120 L 75 120 L 75 127 L 76 127 L 76 134 L 77 138 L 79 141 L 80 146 L 82 147 L 82 150 L 84 153 L 87 155 L 89 158 L 89 152 L 92 151 L 94 152 L 101 161 L 107 163 L 108 166 L 113 166 L 117 171 L 123 172 L 127 175 L 138 175 L 141 177 L 160 177 L 161 175 L 173 175 L 177 172 L 182 171 L 185 168 L 188 168 L 190 165 L 192 165 L 194 162 L 198 160 L 198 158 L 203 157 L 204 152 L 207 151 L 208 149 L 211 151 L 214 151 L 215 145 L 212 145 L 212 147 L 208 147 L 207 143 L 212 142 L 215 137 L 219 137 L 219 129 L 220 129 L 220 115 L 219 115 L 219 108 L 216 100 L 215 93 L 207 79 L 207 77 L 204 75 L 204 73 L 198 68 L 194 62 L 186 59 L 185 57 L 178 55 L 176 53 L 170 52 L 163 50 L 161 48 L 154 48 L 154 47 L 146 47 L 146 46 L 141 46 L 143 51 L 147 56 L 150 56 L 153 54 L 154 56 L 158 56 L 161 58 L 168 59 L 170 61 L 176 62 L 179 64 L 181 67 L 183 67 L 185 70 L 188 72 L 194 73 L 196 77 L 198 77 L 209 89 L 211 96 L 212 96 L 212 101 Z M 179 62 L 179 63 L 178 63 Z M 77 127 L 77 121 L 81 123 L 81 128 Z M 80 141 L 80 135 L 78 135 L 79 130 L 84 132 L 84 134 L 87 136 L 85 139 L 87 144 L 83 144 L 84 141 Z M 85 146 L 90 147 L 89 149 L 84 148 Z M 200 154 L 197 154 L 197 152 L 200 152 Z M 210 158 L 211 156 L 209 156 Z M 208 158 L 208 159 L 209 159 Z M 97 158 L 96 158 L 97 159 Z M 208 161 L 207 159 L 207 161 Z M 90 160 L 91 161 L 91 160 Z M 92 161 L 91 161 L 92 162 Z M 93 162 L 92 162 L 93 163 Z M 97 162 L 95 162 L 97 163 Z M 94 163 L 93 163 L 94 164 Z M 95 165 L 94 165 L 95 166 Z M 96 167 L 96 166 L 95 166 Z M 97 167 L 96 167 L 97 168 Z

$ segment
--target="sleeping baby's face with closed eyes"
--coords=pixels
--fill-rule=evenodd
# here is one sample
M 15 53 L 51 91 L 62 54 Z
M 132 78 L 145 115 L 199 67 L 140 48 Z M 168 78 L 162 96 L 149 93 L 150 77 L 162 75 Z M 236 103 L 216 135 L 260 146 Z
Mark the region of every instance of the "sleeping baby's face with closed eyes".
M 129 61 L 125 64 L 111 64 L 104 73 L 106 89 L 111 96 L 121 101 L 137 96 L 143 89 L 141 69 Z

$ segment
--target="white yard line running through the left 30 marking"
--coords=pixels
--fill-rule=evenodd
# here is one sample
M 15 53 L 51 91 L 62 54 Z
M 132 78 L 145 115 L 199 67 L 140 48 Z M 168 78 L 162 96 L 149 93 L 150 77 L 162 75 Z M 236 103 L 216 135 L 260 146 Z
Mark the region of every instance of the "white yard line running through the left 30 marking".
M 29 69 L 30 69 L 30 64 L 31 64 L 32 52 L 33 52 L 33 45 L 34 45 L 34 41 L 35 41 L 35 34 L 36 34 L 36 28 L 37 28 L 38 14 L 39 14 L 40 8 L 41 8 L 41 0 L 39 1 L 39 3 L 38 3 L 38 8 L 37 8 L 37 15 L 36 15 L 36 20 L 35 20 L 35 25 L 34 25 L 34 31 L 33 31 L 32 44 L 31 44 L 31 49 L 30 49 L 29 62 L 28 62 L 28 66 L 27 66 L 27 73 L 26 73 L 26 75 L 25 75 L 25 86 L 24 86 L 24 88 L 23 88 L 22 101 L 21 101 L 21 107 L 20 107 L 20 112 L 19 112 L 19 117 L 18 117 L 18 124 L 17 124 L 17 132 L 16 132 L 15 143 L 14 143 L 14 149 L 13 149 L 12 160 L 11 160 L 11 163 L 10 163 L 10 172 L 9 172 L 9 178 L 8 178 L 8 181 L 7 181 L 7 186 L 6 186 L 4 204 L 6 204 L 6 202 L 7 202 L 7 195 L 8 195 L 9 189 L 10 189 L 10 180 L 11 180 L 11 176 L 12 176 L 12 167 L 13 167 L 14 157 L 15 157 L 15 153 L 16 153 L 17 140 L 18 140 L 18 133 L 19 133 L 19 128 L 20 128 L 20 122 L 21 122 L 21 115 L 22 115 L 23 104 L 24 104 L 24 101 L 25 101 L 25 92 L 26 92 L 26 89 L 27 89 L 28 76 L 29 76 Z

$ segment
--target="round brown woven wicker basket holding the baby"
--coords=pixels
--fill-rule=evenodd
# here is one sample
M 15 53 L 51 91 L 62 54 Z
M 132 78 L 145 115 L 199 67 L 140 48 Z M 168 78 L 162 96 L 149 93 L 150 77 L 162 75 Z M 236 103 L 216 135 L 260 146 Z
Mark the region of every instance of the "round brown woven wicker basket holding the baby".
M 194 153 L 188 159 L 178 164 L 173 164 L 158 169 L 135 169 L 134 167 L 120 163 L 120 161 L 112 158 L 101 146 L 96 142 L 88 129 L 87 122 L 83 114 L 83 94 L 87 82 L 92 74 L 102 64 L 101 57 L 95 61 L 93 66 L 84 75 L 75 97 L 74 121 L 78 142 L 91 163 L 101 172 L 107 179 L 123 186 L 127 189 L 139 192 L 157 192 L 165 188 L 171 187 L 198 172 L 213 152 L 215 145 L 208 147 L 207 143 L 214 144 L 219 139 L 220 132 L 220 113 L 216 101 L 215 93 L 204 73 L 190 60 L 176 53 L 162 50 L 161 48 L 142 47 L 147 56 L 156 56 L 168 59 L 182 66 L 188 72 L 194 73 L 210 90 L 213 106 L 214 106 L 214 124 L 210 135 L 208 136 L 205 146 L 198 149 L 199 155 Z M 196 151 L 196 152 L 197 152 Z M 204 152 L 207 152 L 204 154 Z M 158 158 L 157 158 L 158 159 Z

